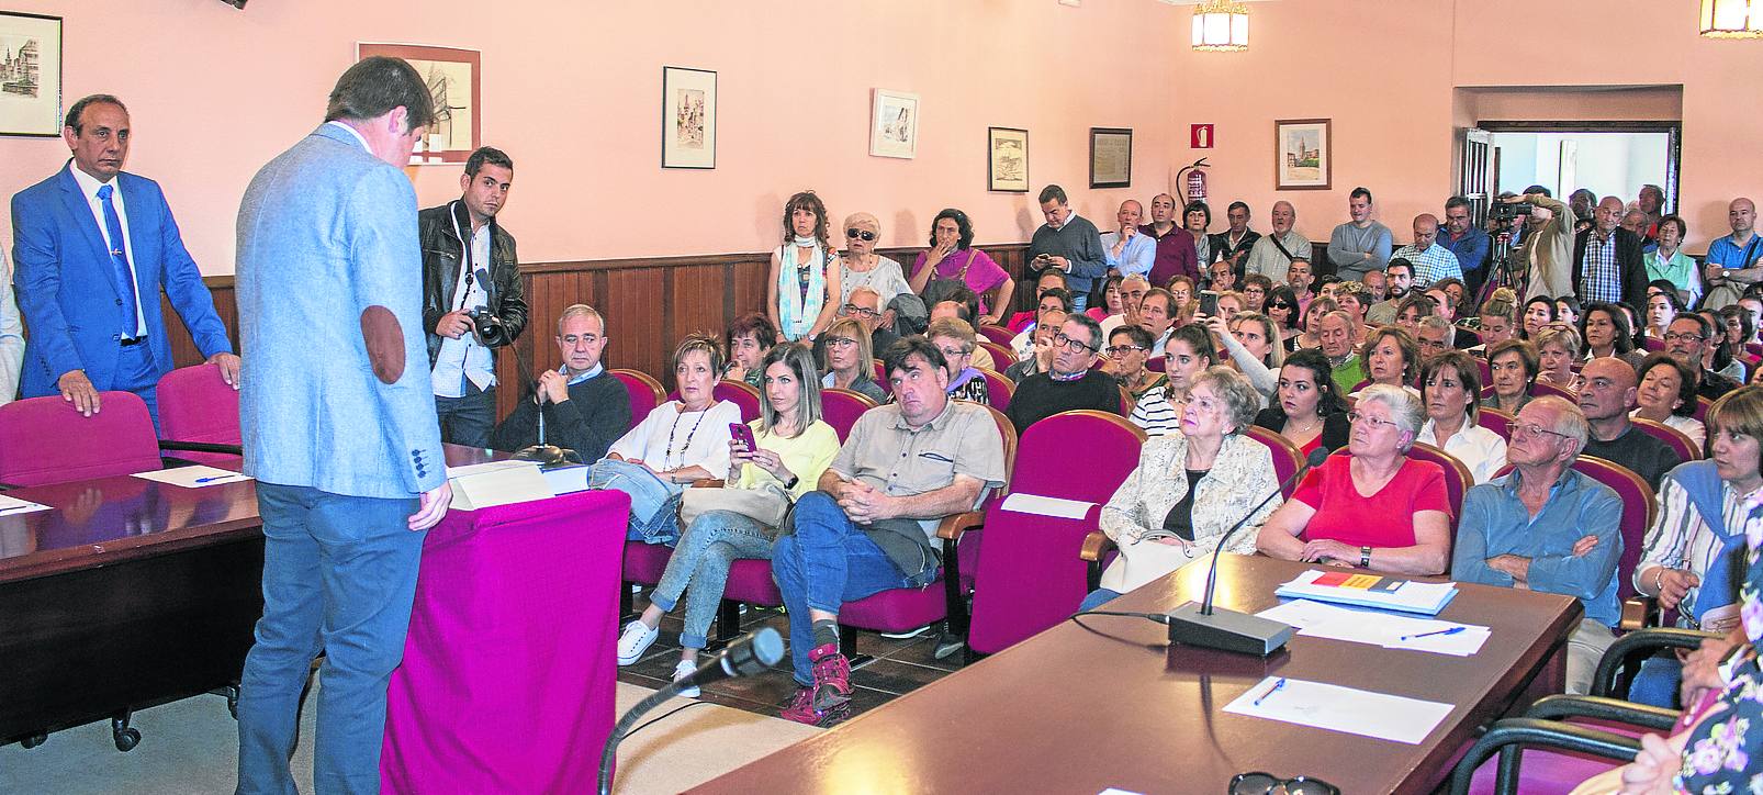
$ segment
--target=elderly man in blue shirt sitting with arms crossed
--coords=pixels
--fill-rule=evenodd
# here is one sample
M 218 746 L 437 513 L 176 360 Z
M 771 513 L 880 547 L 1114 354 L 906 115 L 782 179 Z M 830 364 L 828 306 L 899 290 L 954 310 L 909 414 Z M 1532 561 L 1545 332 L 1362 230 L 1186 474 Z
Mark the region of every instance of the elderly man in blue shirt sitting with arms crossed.
M 1622 619 L 1622 499 L 1573 469 L 1590 435 L 1580 407 L 1539 397 L 1511 432 L 1513 472 L 1463 495 L 1451 576 L 1580 599 L 1585 619 L 1567 638 L 1567 693 L 1587 693 Z

